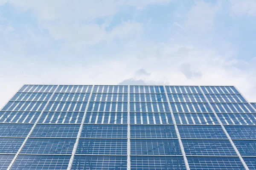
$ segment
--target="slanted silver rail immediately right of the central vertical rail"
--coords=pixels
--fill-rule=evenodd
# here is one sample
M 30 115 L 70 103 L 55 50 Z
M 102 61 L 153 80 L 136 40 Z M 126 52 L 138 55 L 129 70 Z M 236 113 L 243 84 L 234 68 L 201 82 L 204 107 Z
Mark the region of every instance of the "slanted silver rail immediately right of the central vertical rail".
M 178 137 L 178 141 L 179 141 L 180 149 L 181 149 L 182 156 L 183 156 L 183 159 L 184 159 L 184 162 L 185 162 L 186 170 L 190 170 L 190 168 L 189 168 L 189 162 L 188 162 L 188 160 L 187 160 L 187 158 L 186 158 L 186 153 L 185 153 L 185 150 L 184 150 L 184 147 L 183 147 L 181 138 L 180 138 L 180 133 L 179 133 L 179 130 L 178 130 L 176 121 L 175 121 L 175 117 L 174 117 L 173 112 L 172 112 L 172 107 L 171 107 L 171 104 L 170 104 L 170 101 L 169 101 L 169 97 L 168 97 L 168 94 L 167 94 L 165 85 L 163 86 L 163 88 L 164 88 L 164 92 L 165 92 L 165 94 L 166 94 L 166 99 L 167 99 L 167 102 L 168 102 L 169 109 L 170 109 L 170 111 L 171 111 L 172 121 L 173 121 L 173 123 L 174 123 L 175 131 L 176 131 L 176 134 L 177 134 L 177 137 Z

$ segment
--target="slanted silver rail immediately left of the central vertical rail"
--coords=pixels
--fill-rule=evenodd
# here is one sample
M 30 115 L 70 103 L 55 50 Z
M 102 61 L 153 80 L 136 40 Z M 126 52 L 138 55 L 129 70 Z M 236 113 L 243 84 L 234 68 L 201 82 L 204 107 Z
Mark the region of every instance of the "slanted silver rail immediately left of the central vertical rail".
M 82 119 L 82 122 L 81 122 L 81 125 L 79 127 L 79 131 L 78 131 L 78 134 L 77 134 L 77 137 L 76 137 L 76 143 L 74 144 L 74 147 L 73 147 L 73 151 L 72 151 L 72 155 L 70 157 L 70 161 L 68 163 L 68 166 L 67 166 L 67 170 L 71 170 L 71 167 L 72 167 L 72 164 L 73 164 L 73 160 L 75 158 L 75 154 L 76 154 L 76 149 L 77 149 L 77 146 L 78 146 L 78 142 L 79 142 L 79 139 L 80 139 L 80 136 L 81 136 L 81 132 L 82 132 L 82 129 L 83 129 L 83 126 L 84 126 L 84 120 L 85 120 L 85 116 L 86 116 L 86 113 L 87 113 L 87 110 L 89 108 L 89 104 L 90 104 L 90 98 L 93 94 L 93 88 L 94 88 L 94 85 L 91 89 L 91 92 L 90 92 L 90 96 L 88 98 L 88 102 L 87 102 L 87 105 L 86 105 L 86 108 L 85 108 L 85 111 L 84 111 L 84 116 L 83 116 L 83 119 Z

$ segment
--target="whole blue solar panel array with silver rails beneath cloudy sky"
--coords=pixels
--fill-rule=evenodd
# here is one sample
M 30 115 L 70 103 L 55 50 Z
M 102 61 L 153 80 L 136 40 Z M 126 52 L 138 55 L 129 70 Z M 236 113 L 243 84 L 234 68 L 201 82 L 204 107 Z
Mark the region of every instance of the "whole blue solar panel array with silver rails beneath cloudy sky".
M 0 169 L 256 170 L 256 103 L 233 86 L 24 85 Z

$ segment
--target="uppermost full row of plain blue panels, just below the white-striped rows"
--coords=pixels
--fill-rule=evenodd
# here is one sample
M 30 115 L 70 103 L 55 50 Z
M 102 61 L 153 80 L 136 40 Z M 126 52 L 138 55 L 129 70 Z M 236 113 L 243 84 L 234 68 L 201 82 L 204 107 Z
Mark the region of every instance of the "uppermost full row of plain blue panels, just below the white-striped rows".
M 80 125 L 38 124 L 30 137 L 76 138 Z M 0 124 L 0 137 L 26 137 L 32 124 Z M 256 126 L 226 125 L 232 139 L 256 139 Z M 178 125 L 181 138 L 227 139 L 220 125 Z M 131 138 L 177 138 L 173 125 L 131 125 Z M 83 126 L 81 138 L 127 138 L 127 125 Z

